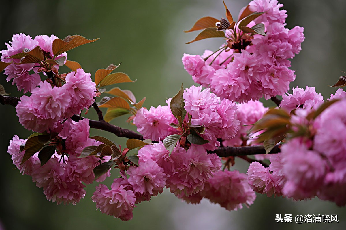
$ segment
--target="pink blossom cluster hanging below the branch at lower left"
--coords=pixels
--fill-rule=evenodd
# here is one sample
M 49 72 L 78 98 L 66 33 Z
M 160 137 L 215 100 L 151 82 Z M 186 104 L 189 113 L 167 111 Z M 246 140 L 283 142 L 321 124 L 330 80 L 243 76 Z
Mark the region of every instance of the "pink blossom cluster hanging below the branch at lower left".
M 67 120 L 55 138 L 56 142 L 50 143 L 51 146 L 57 147 L 53 156 L 43 166 L 38 158 L 39 153 L 35 153 L 34 156 L 21 163 L 26 151 L 21 149 L 21 145 L 24 145 L 26 140 L 20 139 L 18 136 L 14 136 L 10 141 L 7 152 L 20 172 L 31 176 L 33 182 L 36 182 L 36 186 L 43 188 L 47 200 L 57 204 L 72 203 L 75 205 L 86 194 L 83 183 L 90 184 L 95 179 L 93 168 L 100 164 L 99 161 L 109 160 L 109 157 L 100 159 L 95 156 L 78 158 L 84 147 L 100 144 L 89 138 L 89 129 L 87 119 L 79 122 Z M 62 139 L 66 140 L 66 147 Z M 67 155 L 66 152 L 69 154 Z M 97 181 L 103 181 L 108 176 L 110 176 L 109 172 Z

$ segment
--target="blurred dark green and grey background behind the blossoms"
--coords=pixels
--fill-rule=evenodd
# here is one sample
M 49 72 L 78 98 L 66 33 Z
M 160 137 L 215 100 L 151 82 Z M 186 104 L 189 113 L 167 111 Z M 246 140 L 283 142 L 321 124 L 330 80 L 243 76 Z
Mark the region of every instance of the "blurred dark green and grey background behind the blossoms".
M 226 0 L 233 17 L 246 6 L 246 0 Z M 303 26 L 306 37 L 302 51 L 292 60 L 297 79 L 291 87 L 315 86 L 324 98 L 335 92 L 334 84 L 340 70 L 346 71 L 345 20 L 343 0 L 280 0 L 288 11 L 287 27 Z M 202 54 L 204 49 L 216 50 L 222 39 L 206 39 L 192 44 L 198 32 L 185 34 L 193 23 L 204 16 L 224 17 L 221 0 L 175 1 L 1 1 L 0 49 L 12 39 L 12 34 L 25 33 L 32 37 L 55 34 L 60 38 L 79 34 L 86 38 L 101 38 L 71 50 L 69 60 L 78 61 L 93 75 L 99 68 L 119 64 L 117 71 L 127 73 L 135 83 L 122 83 L 120 88 L 132 90 L 137 100 L 146 97 L 146 107 L 165 104 L 181 83 L 189 87 L 194 82 L 181 63 L 183 53 Z M 61 69 L 66 70 L 67 69 Z M 0 77 L 11 96 L 21 96 L 15 86 Z M 273 102 L 265 102 L 273 106 Z M 13 135 L 27 138 L 16 117 L 15 108 L 0 105 L 0 229 L 344 229 L 346 209 L 334 203 L 313 199 L 294 202 L 283 198 L 258 195 L 255 203 L 239 211 L 227 211 L 208 200 L 198 205 L 186 204 L 166 190 L 150 202 L 134 209 L 134 218 L 122 222 L 96 210 L 90 197 L 95 183 L 87 186 L 87 194 L 76 206 L 45 199 L 31 177 L 15 169 L 7 146 Z M 88 117 L 96 119 L 90 110 Z M 111 123 L 134 129 L 125 122 L 126 116 Z M 92 130 L 92 135 L 104 135 L 120 144 L 126 140 L 113 134 Z M 236 168 L 246 172 L 247 163 L 236 161 Z M 110 186 L 112 177 L 104 183 Z M 275 223 L 275 214 L 338 214 L 339 223 Z M 294 221 L 293 221 L 294 222 Z

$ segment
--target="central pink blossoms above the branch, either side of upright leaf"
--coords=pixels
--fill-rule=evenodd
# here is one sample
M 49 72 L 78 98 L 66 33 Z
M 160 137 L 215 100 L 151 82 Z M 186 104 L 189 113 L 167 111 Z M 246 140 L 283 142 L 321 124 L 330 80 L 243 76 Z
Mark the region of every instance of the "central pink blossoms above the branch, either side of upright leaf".
M 239 129 L 237 119 L 237 105 L 228 99 L 220 99 L 210 89 L 202 90 L 202 86 L 191 86 L 183 93 L 185 110 L 191 116 L 190 122 L 195 126 L 204 126 L 206 129 L 200 136 L 208 143 L 202 146 L 207 150 L 214 150 L 220 146 L 218 138 L 233 138 Z M 171 99 L 166 101 L 171 102 Z M 141 108 L 138 110 L 133 123 L 137 126 L 137 131 L 143 134 L 144 138 L 154 141 L 163 140 L 165 137 L 179 133 L 179 129 L 170 126 L 177 123 L 169 106 L 151 107 L 149 110 Z

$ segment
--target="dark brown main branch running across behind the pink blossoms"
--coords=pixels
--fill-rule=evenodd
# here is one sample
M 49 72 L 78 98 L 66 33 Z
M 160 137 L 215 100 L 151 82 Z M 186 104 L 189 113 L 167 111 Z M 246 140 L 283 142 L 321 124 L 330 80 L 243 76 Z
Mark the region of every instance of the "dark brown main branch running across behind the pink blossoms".
M 18 97 L 9 97 L 9 96 L 0 95 L 1 104 L 9 104 L 15 107 L 17 106 L 19 101 L 20 101 L 20 98 Z M 100 114 L 98 113 L 98 115 L 100 119 Z M 102 113 L 101 113 L 101 116 L 102 116 Z M 73 121 L 79 121 L 80 117 L 78 115 L 73 115 L 71 119 Z M 81 119 L 85 119 L 85 118 L 81 118 Z M 89 120 L 89 125 L 90 125 L 90 128 L 101 129 L 107 132 L 111 132 L 111 133 L 114 133 L 118 137 L 144 140 L 141 134 L 138 134 L 129 129 L 123 129 L 118 126 L 112 125 L 104 121 L 103 119 L 100 121 Z M 272 151 L 270 151 L 269 153 L 278 153 L 278 152 L 280 152 L 280 148 L 279 146 L 275 146 L 272 149 Z M 216 150 L 208 151 L 208 153 L 216 153 L 219 157 L 237 157 L 237 156 L 246 156 L 246 155 L 255 155 L 255 154 L 265 154 L 265 149 L 264 149 L 264 146 L 220 147 Z

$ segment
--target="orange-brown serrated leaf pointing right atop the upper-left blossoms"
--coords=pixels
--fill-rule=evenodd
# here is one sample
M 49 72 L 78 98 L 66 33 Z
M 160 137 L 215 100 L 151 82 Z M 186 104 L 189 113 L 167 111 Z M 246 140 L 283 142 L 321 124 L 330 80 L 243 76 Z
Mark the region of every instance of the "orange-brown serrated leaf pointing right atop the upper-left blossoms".
M 66 51 L 72 50 L 76 47 L 79 47 L 81 45 L 97 41 L 97 39 L 88 40 L 84 38 L 83 36 L 79 35 L 73 35 L 73 36 L 67 36 L 64 38 L 64 40 L 61 40 L 60 38 L 54 39 L 53 41 L 53 54 L 54 56 L 58 56 L 59 54 L 62 54 Z

